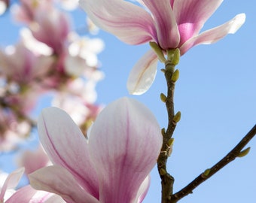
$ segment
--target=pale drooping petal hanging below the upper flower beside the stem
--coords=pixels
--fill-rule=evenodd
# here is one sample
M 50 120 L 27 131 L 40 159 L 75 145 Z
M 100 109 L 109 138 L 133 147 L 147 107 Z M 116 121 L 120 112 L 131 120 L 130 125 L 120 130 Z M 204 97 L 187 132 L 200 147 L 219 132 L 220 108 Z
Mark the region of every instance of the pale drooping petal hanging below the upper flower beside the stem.
M 139 62 L 130 71 L 126 86 L 128 92 L 133 95 L 141 95 L 147 92 L 157 74 L 157 55 L 149 50 L 139 59 Z

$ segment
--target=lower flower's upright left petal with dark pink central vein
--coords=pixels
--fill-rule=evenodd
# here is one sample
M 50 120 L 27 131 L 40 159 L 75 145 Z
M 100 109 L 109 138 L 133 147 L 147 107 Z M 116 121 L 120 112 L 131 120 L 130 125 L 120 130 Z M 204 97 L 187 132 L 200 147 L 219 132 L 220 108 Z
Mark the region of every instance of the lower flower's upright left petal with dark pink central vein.
M 74 121 L 59 108 L 46 108 L 38 120 L 41 144 L 51 161 L 69 170 L 95 197 L 99 183 L 88 154 L 88 144 Z

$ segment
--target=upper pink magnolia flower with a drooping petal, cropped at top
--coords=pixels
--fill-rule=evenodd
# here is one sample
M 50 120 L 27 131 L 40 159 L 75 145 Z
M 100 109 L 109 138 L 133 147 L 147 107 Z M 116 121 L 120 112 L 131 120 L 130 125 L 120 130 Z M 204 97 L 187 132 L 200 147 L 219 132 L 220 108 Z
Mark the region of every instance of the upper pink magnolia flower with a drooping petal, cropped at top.
M 197 44 L 212 44 L 235 33 L 245 22 L 239 14 L 221 26 L 200 33 L 204 23 L 223 0 L 138 0 L 144 8 L 118 0 L 80 0 L 80 5 L 101 29 L 116 35 L 127 44 L 154 41 L 165 52 L 179 48 L 181 55 Z M 133 67 L 127 81 L 130 93 L 148 90 L 157 72 L 157 56 L 153 50 Z

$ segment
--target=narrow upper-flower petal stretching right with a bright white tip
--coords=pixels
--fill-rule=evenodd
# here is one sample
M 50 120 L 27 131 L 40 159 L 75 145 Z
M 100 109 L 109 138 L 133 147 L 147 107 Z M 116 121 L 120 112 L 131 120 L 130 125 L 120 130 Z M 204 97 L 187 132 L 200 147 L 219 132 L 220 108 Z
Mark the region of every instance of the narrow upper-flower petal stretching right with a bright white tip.
M 191 38 L 181 46 L 181 55 L 187 52 L 187 50 L 189 50 L 191 47 L 198 44 L 212 44 L 219 41 L 221 38 L 224 38 L 227 34 L 234 34 L 243 23 L 245 23 L 245 14 L 238 14 L 227 23 L 202 32 L 200 35 Z

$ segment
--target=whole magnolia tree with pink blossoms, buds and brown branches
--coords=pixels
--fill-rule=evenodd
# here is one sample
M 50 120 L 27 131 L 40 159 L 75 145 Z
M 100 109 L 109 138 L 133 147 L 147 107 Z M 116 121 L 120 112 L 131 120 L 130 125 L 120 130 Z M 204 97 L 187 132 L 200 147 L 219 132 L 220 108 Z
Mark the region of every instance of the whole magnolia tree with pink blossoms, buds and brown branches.
M 1 172 L 0 202 L 142 202 L 157 165 L 163 203 L 179 201 L 224 168 L 245 156 L 245 145 L 256 126 L 227 156 L 174 192 L 174 177 L 166 167 L 172 153 L 181 112 L 174 108 L 176 68 L 180 56 L 198 44 L 212 44 L 235 33 L 245 14 L 200 32 L 223 1 L 209 0 L 80 0 L 86 12 L 87 34 L 97 27 L 126 44 L 149 43 L 130 71 L 127 89 L 142 95 L 154 83 L 157 62 L 164 68 L 167 126 L 160 129 L 154 114 L 134 98 L 122 97 L 105 108 L 96 104 L 96 83 L 102 79 L 97 54 L 99 38 L 78 35 L 70 11 L 77 1 L 20 0 L 11 11 L 23 23 L 17 44 L 0 51 L 0 150 L 18 150 L 37 127 L 41 144 L 20 156 L 16 171 Z M 1 1 L 2 14 L 10 6 Z M 96 26 L 97 27 L 96 27 Z M 134 47 L 136 48 L 136 47 Z M 185 57 L 185 56 L 184 56 Z M 39 98 L 49 95 L 54 107 L 33 116 Z M 27 186 L 17 187 L 23 173 Z M 17 188 L 15 191 L 14 189 Z

